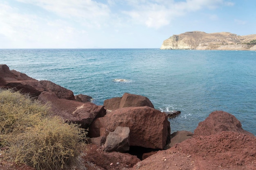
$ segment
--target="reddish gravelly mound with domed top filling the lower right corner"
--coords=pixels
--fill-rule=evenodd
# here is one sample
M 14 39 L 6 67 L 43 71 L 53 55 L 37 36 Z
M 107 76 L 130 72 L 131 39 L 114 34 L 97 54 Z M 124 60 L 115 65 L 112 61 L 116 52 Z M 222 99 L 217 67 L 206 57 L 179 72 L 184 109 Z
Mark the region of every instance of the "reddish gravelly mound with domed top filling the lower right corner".
M 256 137 L 231 114 L 215 111 L 193 137 L 138 162 L 132 169 L 256 169 Z

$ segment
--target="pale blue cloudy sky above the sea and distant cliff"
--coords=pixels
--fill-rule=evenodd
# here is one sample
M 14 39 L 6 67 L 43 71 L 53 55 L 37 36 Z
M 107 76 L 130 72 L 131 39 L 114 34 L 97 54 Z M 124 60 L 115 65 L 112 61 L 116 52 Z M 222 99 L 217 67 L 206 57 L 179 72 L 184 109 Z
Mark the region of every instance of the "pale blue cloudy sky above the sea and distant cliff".
M 187 31 L 256 34 L 256 0 L 0 0 L 0 48 L 160 48 Z

